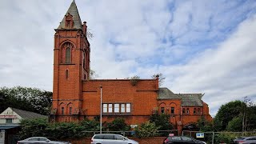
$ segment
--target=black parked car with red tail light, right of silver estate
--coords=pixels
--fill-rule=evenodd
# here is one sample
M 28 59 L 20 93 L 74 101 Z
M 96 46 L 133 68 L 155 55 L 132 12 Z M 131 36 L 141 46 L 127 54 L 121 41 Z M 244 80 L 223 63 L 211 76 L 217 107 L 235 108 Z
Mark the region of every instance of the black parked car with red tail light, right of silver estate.
M 206 144 L 206 142 L 202 142 L 196 140 L 194 138 L 186 137 L 186 136 L 169 136 L 165 138 L 162 142 L 163 144 L 180 144 L 180 143 L 197 143 L 197 144 Z

